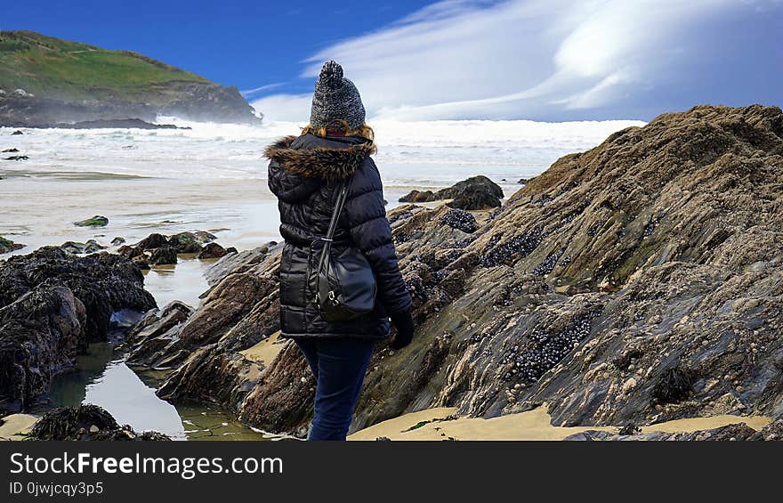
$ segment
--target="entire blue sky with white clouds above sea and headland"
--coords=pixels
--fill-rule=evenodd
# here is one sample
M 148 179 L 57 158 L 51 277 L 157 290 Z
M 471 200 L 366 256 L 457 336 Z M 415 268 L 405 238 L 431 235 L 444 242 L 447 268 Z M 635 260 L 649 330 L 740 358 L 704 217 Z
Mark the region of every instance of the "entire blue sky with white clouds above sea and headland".
M 0 28 L 130 49 L 306 120 L 322 61 L 371 116 L 650 119 L 783 104 L 781 0 L 4 2 Z

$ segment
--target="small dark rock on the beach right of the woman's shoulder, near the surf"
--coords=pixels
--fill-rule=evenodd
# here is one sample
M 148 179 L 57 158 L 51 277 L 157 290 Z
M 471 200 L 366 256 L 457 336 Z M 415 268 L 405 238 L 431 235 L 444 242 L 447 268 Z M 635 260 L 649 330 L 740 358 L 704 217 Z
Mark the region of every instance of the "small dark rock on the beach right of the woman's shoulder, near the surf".
M 473 176 L 440 191 L 410 191 L 400 198 L 402 203 L 428 203 L 441 199 L 452 199 L 449 207 L 467 210 L 499 207 L 503 190 L 486 176 Z

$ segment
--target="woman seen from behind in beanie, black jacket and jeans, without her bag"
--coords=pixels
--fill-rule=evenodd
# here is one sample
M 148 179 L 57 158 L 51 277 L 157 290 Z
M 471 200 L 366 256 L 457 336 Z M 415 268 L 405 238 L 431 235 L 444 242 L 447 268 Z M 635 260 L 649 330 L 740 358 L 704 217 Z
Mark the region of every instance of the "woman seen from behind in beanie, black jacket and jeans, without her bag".
M 345 440 L 375 343 L 390 335 L 389 318 L 395 329 L 392 348 L 408 345 L 414 334 L 411 296 L 391 241 L 381 175 L 370 157 L 373 140 L 359 91 L 339 64 L 327 61 L 315 85 L 310 124 L 264 152 L 286 241 L 280 334 L 294 339 L 317 381 L 308 440 Z M 319 313 L 307 271 L 311 245 L 327 235 L 341 183 L 348 192 L 333 253 L 359 248 L 375 274 L 377 292 L 372 312 L 331 322 Z

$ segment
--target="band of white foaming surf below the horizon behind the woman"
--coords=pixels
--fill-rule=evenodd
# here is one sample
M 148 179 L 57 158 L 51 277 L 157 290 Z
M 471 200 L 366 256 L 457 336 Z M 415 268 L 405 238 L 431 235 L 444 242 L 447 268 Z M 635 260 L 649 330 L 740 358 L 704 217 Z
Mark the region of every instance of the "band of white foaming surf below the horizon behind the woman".
M 190 129 L 38 129 L 18 136 L 0 130 L 0 146 L 15 147 L 27 155 L 30 159 L 24 168 L 30 176 L 257 178 L 264 176 L 264 146 L 280 136 L 298 134 L 303 126 L 295 122 L 262 126 L 196 123 L 170 117 L 160 117 L 158 122 Z M 566 153 L 591 148 L 624 127 L 642 125 L 625 120 L 385 120 L 372 126 L 379 147 L 375 159 L 384 178 L 416 185 L 422 180 L 421 169 L 436 172 L 428 178 L 431 183 L 453 183 L 473 173 L 498 180 L 537 174 Z M 0 165 L 8 170 L 20 167 Z

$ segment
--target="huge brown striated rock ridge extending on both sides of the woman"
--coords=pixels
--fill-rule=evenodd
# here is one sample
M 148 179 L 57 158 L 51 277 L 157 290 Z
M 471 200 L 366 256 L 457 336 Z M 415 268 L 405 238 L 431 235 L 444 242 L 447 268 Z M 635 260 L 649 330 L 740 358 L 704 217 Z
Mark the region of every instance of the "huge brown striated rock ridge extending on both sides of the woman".
M 488 417 L 544 402 L 564 426 L 783 417 L 781 186 L 783 112 L 700 106 L 559 159 L 474 225 L 448 207 L 395 208 L 416 337 L 379 346 L 352 429 L 435 406 Z M 167 385 L 296 433 L 312 385 L 295 347 L 238 384 L 238 352 L 277 329 L 269 251 L 215 266 L 187 332 L 206 346 Z M 214 383 L 252 391 L 238 402 Z

